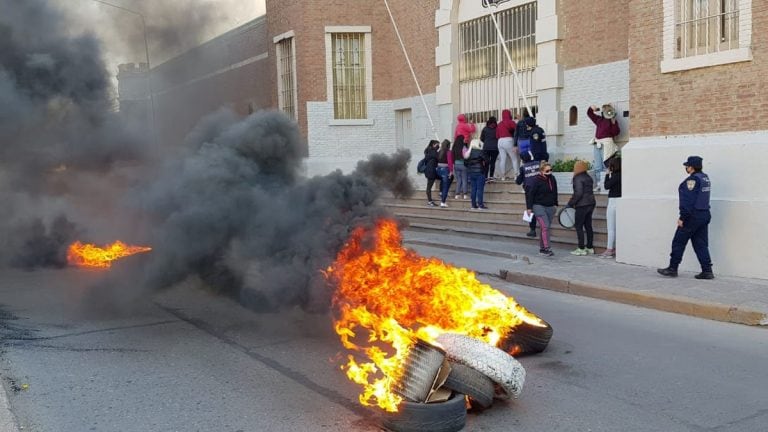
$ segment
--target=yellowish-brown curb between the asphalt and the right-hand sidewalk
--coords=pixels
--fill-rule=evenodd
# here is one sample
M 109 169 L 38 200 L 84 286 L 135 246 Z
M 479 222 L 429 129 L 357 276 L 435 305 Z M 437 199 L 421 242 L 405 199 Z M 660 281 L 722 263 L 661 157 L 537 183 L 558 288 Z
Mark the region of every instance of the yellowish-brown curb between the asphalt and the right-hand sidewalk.
M 687 297 L 648 294 L 590 282 L 578 280 L 569 281 L 517 271 L 501 270 L 499 271 L 499 276 L 507 282 L 527 285 L 534 288 L 608 300 L 616 303 L 706 318 L 714 321 L 751 326 L 768 325 L 768 315 L 766 313 L 739 308 L 735 305 L 712 303 Z

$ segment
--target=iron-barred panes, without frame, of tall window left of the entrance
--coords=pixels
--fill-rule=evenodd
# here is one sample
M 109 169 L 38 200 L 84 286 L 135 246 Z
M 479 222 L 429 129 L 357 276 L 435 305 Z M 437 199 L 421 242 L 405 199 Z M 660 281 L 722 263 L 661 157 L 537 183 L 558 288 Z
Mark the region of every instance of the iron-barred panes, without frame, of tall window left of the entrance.
M 331 34 L 333 114 L 336 119 L 368 117 L 365 33 Z

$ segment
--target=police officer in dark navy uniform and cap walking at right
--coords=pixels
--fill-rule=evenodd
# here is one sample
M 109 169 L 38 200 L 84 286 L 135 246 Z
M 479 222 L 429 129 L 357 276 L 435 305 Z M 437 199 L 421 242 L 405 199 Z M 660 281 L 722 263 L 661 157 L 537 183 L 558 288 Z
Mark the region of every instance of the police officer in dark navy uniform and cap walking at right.
M 701 264 L 701 273 L 696 279 L 714 279 L 712 274 L 712 259 L 709 257 L 709 222 L 712 215 L 709 212 L 709 194 L 711 184 L 709 177 L 701 169 L 703 159 L 699 156 L 689 156 L 683 164 L 688 178 L 680 187 L 680 217 L 677 220 L 677 231 L 672 239 L 672 253 L 669 254 L 669 267 L 659 269 L 663 276 L 676 277 L 677 266 L 683 260 L 683 252 L 688 240 L 693 244 L 696 258 Z

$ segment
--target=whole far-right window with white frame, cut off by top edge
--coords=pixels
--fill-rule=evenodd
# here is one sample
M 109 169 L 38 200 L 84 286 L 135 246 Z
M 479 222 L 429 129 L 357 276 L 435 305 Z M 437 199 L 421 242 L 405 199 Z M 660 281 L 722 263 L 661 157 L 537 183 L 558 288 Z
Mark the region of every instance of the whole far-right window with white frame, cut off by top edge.
M 662 72 L 752 59 L 752 0 L 663 0 Z

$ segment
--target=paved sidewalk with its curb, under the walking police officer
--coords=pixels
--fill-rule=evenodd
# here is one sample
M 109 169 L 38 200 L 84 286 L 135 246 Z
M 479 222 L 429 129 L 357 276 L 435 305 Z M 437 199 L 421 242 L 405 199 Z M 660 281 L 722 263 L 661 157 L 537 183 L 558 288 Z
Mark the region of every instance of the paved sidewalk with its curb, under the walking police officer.
M 716 321 L 768 326 L 768 280 L 715 273 L 716 279 L 700 281 L 688 272 L 665 278 L 655 268 L 573 256 L 572 248 L 555 247 L 555 256 L 542 257 L 536 245 L 509 239 L 480 240 L 408 230 L 403 238 L 407 247 L 420 252 L 427 248 L 460 252 L 462 262 L 454 264 L 512 283 Z M 424 254 L 439 253 L 432 249 Z

